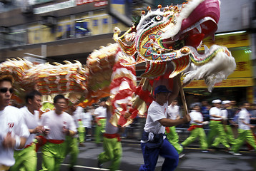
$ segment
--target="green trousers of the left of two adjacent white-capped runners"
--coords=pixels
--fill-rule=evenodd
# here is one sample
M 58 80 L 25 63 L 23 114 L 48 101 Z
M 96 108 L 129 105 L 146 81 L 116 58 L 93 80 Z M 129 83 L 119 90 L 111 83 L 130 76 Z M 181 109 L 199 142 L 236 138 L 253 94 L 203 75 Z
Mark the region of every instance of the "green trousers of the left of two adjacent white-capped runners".
M 227 143 L 226 133 L 225 133 L 225 130 L 223 128 L 221 121 L 211 120 L 210 121 L 210 133 L 209 133 L 208 139 L 207 139 L 208 147 L 214 146 L 212 144 L 212 140 L 213 140 L 213 138 L 215 138 L 216 135 L 219 136 L 220 142 L 222 143 L 222 145 L 224 145 L 227 148 L 230 147 L 230 145 Z M 217 147 L 217 146 L 214 146 L 214 147 Z

